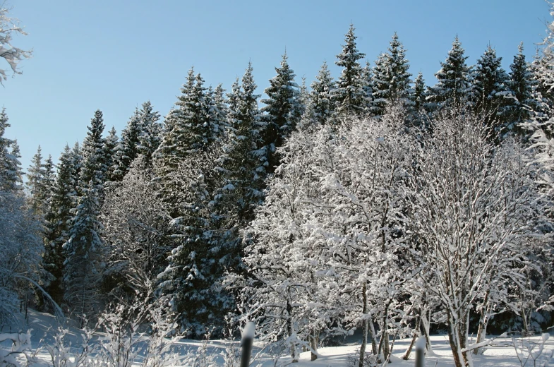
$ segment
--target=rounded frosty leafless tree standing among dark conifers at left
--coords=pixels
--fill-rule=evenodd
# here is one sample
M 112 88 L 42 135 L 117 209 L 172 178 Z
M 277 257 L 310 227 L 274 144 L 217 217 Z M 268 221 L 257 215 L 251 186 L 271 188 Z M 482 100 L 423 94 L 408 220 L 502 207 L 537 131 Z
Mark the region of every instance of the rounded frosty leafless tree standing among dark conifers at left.
M 153 294 L 157 275 L 167 265 L 169 215 L 156 197 L 159 183 L 152 181 L 150 162 L 144 155 L 133 161 L 121 183 L 106 195 L 100 219 L 108 246 L 109 287 L 119 299 L 133 300 Z M 136 299 L 147 304 L 150 299 Z

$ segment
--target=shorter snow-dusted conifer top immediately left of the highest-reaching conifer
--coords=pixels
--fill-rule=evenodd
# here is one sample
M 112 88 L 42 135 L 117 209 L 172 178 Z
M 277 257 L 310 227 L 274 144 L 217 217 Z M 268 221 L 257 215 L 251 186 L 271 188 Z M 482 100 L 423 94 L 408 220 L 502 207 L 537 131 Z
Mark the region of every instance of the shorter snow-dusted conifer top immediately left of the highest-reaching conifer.
M 323 125 L 335 113 L 335 102 L 332 100 L 332 90 L 335 89 L 335 82 L 331 72 L 327 68 L 327 62 L 323 62 L 320 71 L 311 84 L 306 117 L 303 126 L 311 124 Z

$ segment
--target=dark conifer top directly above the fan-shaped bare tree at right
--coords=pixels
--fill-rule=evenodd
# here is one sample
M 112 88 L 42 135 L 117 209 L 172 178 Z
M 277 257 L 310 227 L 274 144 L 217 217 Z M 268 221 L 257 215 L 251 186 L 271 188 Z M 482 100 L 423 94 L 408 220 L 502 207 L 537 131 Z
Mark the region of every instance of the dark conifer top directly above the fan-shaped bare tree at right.
M 435 74 L 438 82 L 431 89 L 430 100 L 435 108 L 450 104 L 466 104 L 471 92 L 469 76 L 471 68 L 466 65 L 468 56 L 458 36 L 452 42 L 452 49 L 447 59 L 440 63 L 440 70 Z

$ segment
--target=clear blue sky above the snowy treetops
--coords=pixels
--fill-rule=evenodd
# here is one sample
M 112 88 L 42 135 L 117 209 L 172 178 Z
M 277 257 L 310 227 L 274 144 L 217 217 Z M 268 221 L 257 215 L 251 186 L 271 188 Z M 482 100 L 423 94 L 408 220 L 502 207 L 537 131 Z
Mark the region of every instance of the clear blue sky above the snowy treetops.
M 509 70 L 519 42 L 530 60 L 550 20 L 544 0 L 281 0 L 143 1 L 8 0 L 29 33 L 14 44 L 32 48 L 23 75 L 0 87 L 26 170 L 37 146 L 57 160 L 82 141 L 96 109 L 119 132 L 146 100 L 162 116 L 176 101 L 191 66 L 207 84 L 229 89 L 248 60 L 258 93 L 275 75 L 285 47 L 297 75 L 315 78 L 335 55 L 352 22 L 368 61 L 385 52 L 396 31 L 410 71 L 428 84 L 455 35 L 469 63 L 490 44 Z

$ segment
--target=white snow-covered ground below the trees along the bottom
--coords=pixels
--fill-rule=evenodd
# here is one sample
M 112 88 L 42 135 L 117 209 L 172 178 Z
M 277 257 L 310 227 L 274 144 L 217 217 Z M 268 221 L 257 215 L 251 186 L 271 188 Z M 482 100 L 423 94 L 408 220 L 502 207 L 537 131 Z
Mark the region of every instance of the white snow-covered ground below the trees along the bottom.
M 71 323 L 71 321 L 70 321 Z M 30 341 L 32 344 L 32 352 L 35 353 L 35 362 L 30 366 L 55 366 L 52 363 L 52 358 L 49 355 L 47 346 L 54 342 L 55 330 L 58 323 L 54 316 L 47 313 L 39 313 L 37 311 L 30 310 L 29 315 L 29 327 L 32 329 L 30 335 Z M 80 345 L 83 343 L 83 330 L 78 329 L 75 325 L 68 326 L 68 333 L 66 335 L 66 342 L 71 343 L 71 351 L 76 353 L 80 349 Z M 17 330 L 1 330 L 0 340 L 5 339 L 10 332 Z M 102 337 L 103 334 L 98 332 L 96 337 Z M 3 338 L 4 337 L 4 338 Z M 543 338 L 546 341 L 543 342 Z M 431 337 L 433 346 L 433 352 L 426 356 L 426 366 L 453 366 L 452 351 L 448 344 L 447 335 L 433 335 Z M 516 342 L 519 345 L 518 351 L 514 348 L 513 343 Z M 522 343 L 524 348 L 522 349 Z M 11 342 L 5 340 L 0 342 L 0 356 L 6 354 L 11 349 Z M 543 349 L 541 349 L 543 344 Z M 239 342 L 234 342 L 235 347 L 238 347 Z M 406 367 L 414 366 L 415 351 L 412 352 L 411 358 L 408 361 L 402 359 L 404 351 L 406 351 L 409 345 L 409 339 L 399 339 L 395 341 L 393 357 L 390 365 Z M 207 347 L 208 359 L 205 364 L 203 363 L 191 363 L 190 357 L 198 356 L 202 353 L 201 349 Z M 210 340 L 209 342 L 203 342 L 191 339 L 180 339 L 174 344 L 174 350 L 178 352 L 179 356 L 177 360 L 183 357 L 181 362 L 171 363 L 163 366 L 195 366 L 195 367 L 209 367 L 209 366 L 224 366 L 224 351 L 229 347 L 229 341 L 225 340 Z M 533 347 L 533 353 L 530 355 L 528 349 Z M 368 345 L 371 349 L 371 344 Z M 38 349 L 38 351 L 37 351 Z M 318 350 L 320 356 L 316 361 L 311 361 L 311 354 L 309 351 L 300 354 L 299 363 L 291 363 L 291 358 L 287 355 L 279 356 L 279 358 L 264 353 L 263 348 L 259 343 L 255 342 L 253 355 L 257 355 L 251 366 L 296 366 L 296 367 L 327 367 L 327 366 L 353 366 L 352 359 L 359 351 L 359 344 L 351 343 L 341 347 L 324 347 Z M 540 352 L 540 356 L 538 356 Z M 517 354 L 519 354 L 519 359 Z M 474 355 L 474 366 L 548 366 L 548 363 L 554 361 L 554 337 L 548 338 L 548 335 L 543 337 L 517 337 L 512 339 L 510 337 L 497 337 L 493 342 L 488 345 L 483 354 Z M 184 358 L 188 356 L 189 359 Z M 537 358 L 538 356 L 538 358 Z M 22 361 L 21 355 L 18 356 L 18 360 Z M 210 358 L 211 357 L 211 358 Z M 534 361 L 533 357 L 536 357 Z M 142 356 L 138 356 L 133 366 L 142 366 Z M 22 361 L 23 362 L 23 361 Z M 9 364 L 0 363 L 0 366 L 11 366 Z M 25 364 L 21 364 L 25 366 Z M 61 364 L 59 366 L 62 366 Z M 73 363 L 68 363 L 64 366 L 74 366 Z M 97 365 L 100 366 L 100 365 Z M 237 365 L 238 366 L 238 365 Z

